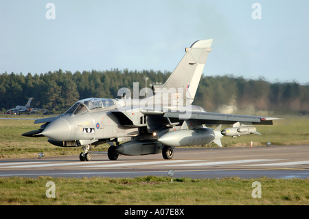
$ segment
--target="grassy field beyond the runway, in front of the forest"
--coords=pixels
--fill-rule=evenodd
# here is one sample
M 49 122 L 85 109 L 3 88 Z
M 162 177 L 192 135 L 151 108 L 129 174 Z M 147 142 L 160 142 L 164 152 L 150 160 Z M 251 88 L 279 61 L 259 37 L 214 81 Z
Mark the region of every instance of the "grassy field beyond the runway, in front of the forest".
M 3 115 L 1 117 L 4 117 Z M 10 116 L 8 116 L 10 117 Z M 12 118 L 29 117 L 27 115 L 12 115 Z M 31 115 L 32 117 L 32 115 Z M 309 117 L 283 116 L 276 120 L 273 126 L 256 126 L 262 135 L 244 135 L 241 137 L 223 137 L 224 147 L 249 147 L 266 145 L 304 145 L 309 144 Z M 0 158 L 37 157 L 39 152 L 45 156 L 60 156 L 79 154 L 81 148 L 60 148 L 47 142 L 46 137 L 30 138 L 21 136 L 22 133 L 40 128 L 34 120 L 5 120 L 0 119 Z M 225 128 L 227 126 L 222 126 Z M 215 128 L 215 127 L 212 127 Z M 218 147 L 211 143 L 207 147 Z M 108 144 L 98 146 L 95 150 L 107 150 Z

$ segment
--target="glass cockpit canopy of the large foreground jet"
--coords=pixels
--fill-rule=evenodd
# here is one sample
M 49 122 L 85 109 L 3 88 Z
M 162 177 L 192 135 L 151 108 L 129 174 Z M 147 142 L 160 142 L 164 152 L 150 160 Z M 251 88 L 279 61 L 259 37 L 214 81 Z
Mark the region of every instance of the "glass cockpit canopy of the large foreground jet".
M 111 99 L 88 98 L 76 102 L 67 112 L 66 115 L 79 115 L 95 108 L 106 108 L 113 106 L 115 103 Z

